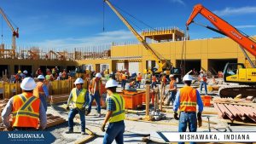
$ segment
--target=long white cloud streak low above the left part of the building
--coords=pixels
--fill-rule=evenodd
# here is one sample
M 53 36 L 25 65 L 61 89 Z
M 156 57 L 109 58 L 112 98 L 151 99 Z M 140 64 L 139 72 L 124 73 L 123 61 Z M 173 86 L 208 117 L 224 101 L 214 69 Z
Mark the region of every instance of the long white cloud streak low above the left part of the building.
M 67 37 L 63 39 L 44 40 L 39 43 L 31 43 L 42 48 L 61 48 L 73 49 L 85 46 L 104 45 L 110 43 L 136 41 L 136 37 L 130 32 L 125 30 L 113 32 L 101 32 L 91 37 L 73 38 Z

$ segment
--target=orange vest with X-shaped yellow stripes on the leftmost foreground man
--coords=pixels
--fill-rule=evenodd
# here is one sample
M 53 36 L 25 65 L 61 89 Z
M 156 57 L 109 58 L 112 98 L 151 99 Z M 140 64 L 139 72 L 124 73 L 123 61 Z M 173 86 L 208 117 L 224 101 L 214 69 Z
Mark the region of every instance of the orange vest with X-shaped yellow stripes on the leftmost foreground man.
M 40 99 L 32 93 L 14 96 L 13 127 L 38 128 Z

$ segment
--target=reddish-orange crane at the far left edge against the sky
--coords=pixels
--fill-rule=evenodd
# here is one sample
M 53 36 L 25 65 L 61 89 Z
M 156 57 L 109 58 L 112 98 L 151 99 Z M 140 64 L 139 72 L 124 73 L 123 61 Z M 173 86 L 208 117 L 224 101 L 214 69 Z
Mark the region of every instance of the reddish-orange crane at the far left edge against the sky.
M 11 29 L 11 31 L 13 32 L 13 38 L 12 38 L 12 49 L 6 49 L 5 51 L 9 52 L 9 55 L 11 55 L 12 58 L 15 58 L 15 50 L 16 50 L 16 37 L 19 37 L 19 27 L 14 28 L 14 26 L 12 26 L 12 24 L 10 23 L 10 21 L 8 20 L 6 14 L 4 14 L 3 9 L 0 8 L 0 14 L 3 15 L 3 19 L 7 22 L 9 28 Z

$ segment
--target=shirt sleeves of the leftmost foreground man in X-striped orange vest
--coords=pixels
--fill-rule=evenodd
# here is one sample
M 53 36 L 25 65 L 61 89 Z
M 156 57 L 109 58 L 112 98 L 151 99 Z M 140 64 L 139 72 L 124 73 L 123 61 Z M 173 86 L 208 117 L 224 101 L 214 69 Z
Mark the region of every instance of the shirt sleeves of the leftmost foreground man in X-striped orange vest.
M 13 103 L 14 103 L 14 97 L 9 99 L 7 105 L 3 108 L 3 112 L 1 114 L 3 119 L 3 124 L 7 128 L 11 127 L 11 124 L 9 122 L 9 115 L 13 111 Z M 40 127 L 44 130 L 47 125 L 47 117 L 46 117 L 46 112 L 44 110 L 44 106 L 42 102 L 40 102 L 40 106 L 39 106 L 39 121 L 40 121 Z

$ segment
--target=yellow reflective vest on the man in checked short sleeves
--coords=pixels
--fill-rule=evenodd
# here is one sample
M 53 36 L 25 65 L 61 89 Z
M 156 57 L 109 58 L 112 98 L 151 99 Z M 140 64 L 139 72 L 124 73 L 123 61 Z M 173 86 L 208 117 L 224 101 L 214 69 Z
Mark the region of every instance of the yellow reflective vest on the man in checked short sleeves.
M 109 123 L 119 122 L 125 119 L 125 100 L 123 96 L 113 94 L 110 98 L 115 103 L 115 111 L 113 111 L 111 117 L 108 119 Z

